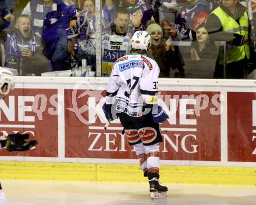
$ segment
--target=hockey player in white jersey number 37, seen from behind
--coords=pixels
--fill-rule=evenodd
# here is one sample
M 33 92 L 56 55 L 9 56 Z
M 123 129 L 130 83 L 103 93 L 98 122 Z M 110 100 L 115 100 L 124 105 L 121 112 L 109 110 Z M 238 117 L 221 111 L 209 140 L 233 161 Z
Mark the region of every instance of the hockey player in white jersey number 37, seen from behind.
M 120 118 L 125 136 L 134 145 L 144 176 L 148 177 L 153 199 L 166 196 L 168 188 L 159 184 L 159 123 L 168 115 L 158 105 L 159 67 L 147 57 L 151 37 L 136 31 L 131 38 L 131 54 L 119 58 L 112 68 L 106 90 L 104 112 L 109 121 Z

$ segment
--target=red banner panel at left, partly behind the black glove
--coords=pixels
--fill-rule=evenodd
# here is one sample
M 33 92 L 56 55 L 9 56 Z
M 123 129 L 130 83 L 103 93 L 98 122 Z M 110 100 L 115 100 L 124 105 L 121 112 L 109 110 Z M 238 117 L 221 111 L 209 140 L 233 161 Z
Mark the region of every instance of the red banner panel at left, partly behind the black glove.
M 29 140 L 40 142 L 27 152 L 3 149 L 1 156 L 58 157 L 57 94 L 57 89 L 15 89 L 0 101 L 1 136 L 29 133 Z

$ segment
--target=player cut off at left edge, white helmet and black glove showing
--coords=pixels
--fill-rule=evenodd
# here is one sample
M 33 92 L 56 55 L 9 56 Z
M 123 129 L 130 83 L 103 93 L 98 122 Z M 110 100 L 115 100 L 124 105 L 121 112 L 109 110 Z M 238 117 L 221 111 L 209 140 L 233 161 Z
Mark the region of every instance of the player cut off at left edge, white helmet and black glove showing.
M 14 78 L 12 72 L 8 69 L 0 67 L 0 100 L 3 100 L 9 93 L 10 89 L 14 88 Z M 9 152 L 12 151 L 27 151 L 33 148 L 37 141 L 25 141 L 29 138 L 29 134 L 9 134 L 7 137 L 0 136 L 0 150 L 6 147 Z M 0 184 L 0 205 L 5 205 L 5 193 L 2 191 Z

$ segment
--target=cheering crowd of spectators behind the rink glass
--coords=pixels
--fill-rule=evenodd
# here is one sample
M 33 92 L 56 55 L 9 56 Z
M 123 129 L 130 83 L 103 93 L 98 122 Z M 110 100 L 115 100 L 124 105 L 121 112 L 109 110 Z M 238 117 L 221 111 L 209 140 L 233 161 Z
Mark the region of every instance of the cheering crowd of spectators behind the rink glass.
M 248 5 L 247 3 L 250 2 Z M 81 67 L 96 70 L 95 0 L 30 0 L 14 16 L 0 2 L 1 65 L 19 75 Z M 148 56 L 163 78 L 247 78 L 255 67 L 256 1 L 102 1 L 102 76 L 130 53 L 131 36 L 151 36 Z

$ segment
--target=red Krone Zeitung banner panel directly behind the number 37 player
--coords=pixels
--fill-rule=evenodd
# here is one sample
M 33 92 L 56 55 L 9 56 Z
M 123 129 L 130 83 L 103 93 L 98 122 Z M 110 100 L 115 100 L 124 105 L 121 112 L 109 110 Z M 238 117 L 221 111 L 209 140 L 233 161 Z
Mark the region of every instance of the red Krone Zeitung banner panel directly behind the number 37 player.
M 104 130 L 104 93 L 65 89 L 66 158 L 136 159 L 119 120 Z M 159 104 L 169 114 L 161 125 L 161 159 L 221 160 L 219 100 L 214 91 L 159 91 Z

